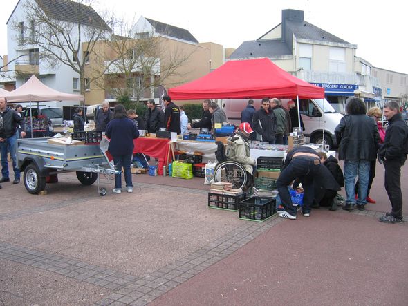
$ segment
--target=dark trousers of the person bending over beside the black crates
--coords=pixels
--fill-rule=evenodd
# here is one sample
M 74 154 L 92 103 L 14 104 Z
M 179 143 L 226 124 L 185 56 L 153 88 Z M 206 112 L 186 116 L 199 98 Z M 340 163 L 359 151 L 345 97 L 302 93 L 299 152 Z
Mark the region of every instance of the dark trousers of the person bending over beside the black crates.
M 277 179 L 277 189 L 284 209 L 292 216 L 296 216 L 296 208 L 290 199 L 288 186 L 293 180 L 299 178 L 303 184 L 304 195 L 302 211 L 310 213 L 310 206 L 315 198 L 314 178 L 320 167 L 320 160 L 310 159 L 308 157 L 295 157 L 281 172 Z

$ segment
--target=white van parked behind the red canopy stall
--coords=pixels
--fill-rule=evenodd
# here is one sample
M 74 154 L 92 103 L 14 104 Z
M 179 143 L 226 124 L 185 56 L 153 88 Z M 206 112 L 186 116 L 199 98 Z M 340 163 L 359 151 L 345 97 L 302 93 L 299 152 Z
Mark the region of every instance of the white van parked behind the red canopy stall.
M 258 110 L 261 107 L 261 99 L 253 100 L 254 107 Z M 281 100 L 282 106 L 288 109 L 290 99 Z M 295 99 L 293 101 L 297 103 Z M 241 111 L 248 105 L 248 99 L 223 99 L 222 105 L 228 122 L 237 125 L 241 122 Z M 337 113 L 326 99 L 299 99 L 299 110 L 304 123 L 304 135 L 310 137 L 310 142 L 322 144 L 324 127 L 326 144 L 330 147 L 337 145 L 334 130 L 343 115 Z

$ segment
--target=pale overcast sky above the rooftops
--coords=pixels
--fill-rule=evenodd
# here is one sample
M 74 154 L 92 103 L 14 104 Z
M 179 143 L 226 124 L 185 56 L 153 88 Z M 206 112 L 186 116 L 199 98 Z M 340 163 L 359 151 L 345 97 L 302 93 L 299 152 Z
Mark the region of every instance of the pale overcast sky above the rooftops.
M 7 53 L 6 21 L 17 2 L 1 1 L 1 55 Z M 98 12 L 115 12 L 128 22 L 143 15 L 186 28 L 198 41 L 225 48 L 237 48 L 274 28 L 283 9 L 304 10 L 306 21 L 358 45 L 358 57 L 376 67 L 408 73 L 405 0 L 93 0 L 92 6 Z

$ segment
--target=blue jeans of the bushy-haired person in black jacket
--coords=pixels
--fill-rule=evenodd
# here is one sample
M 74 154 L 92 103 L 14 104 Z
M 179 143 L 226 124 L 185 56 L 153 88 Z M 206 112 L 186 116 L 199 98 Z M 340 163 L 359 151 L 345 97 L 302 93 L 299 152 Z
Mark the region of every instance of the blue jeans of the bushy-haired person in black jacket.
M 358 175 L 358 199 L 355 201 L 354 184 Z M 346 204 L 367 204 L 367 190 L 369 188 L 370 161 L 344 160 L 344 187 L 346 187 Z

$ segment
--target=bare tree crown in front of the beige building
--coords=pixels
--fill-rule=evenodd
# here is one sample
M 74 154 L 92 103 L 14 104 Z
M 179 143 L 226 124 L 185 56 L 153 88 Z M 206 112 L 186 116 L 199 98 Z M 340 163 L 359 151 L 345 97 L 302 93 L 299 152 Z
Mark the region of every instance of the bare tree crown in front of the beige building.
M 186 73 L 187 68 L 183 73 L 179 68 L 187 64 L 194 48 L 180 48 L 171 39 L 151 33 L 132 33 L 131 28 L 124 30 L 124 26 L 120 27 L 120 32 L 127 35 L 112 35 L 109 42 L 111 55 L 106 61 L 110 67 L 105 65 L 104 82 L 102 79 L 97 81 L 100 88 L 109 90 L 116 99 L 127 97 L 139 102 L 146 97 L 144 93 L 150 97 L 149 93 L 159 85 L 169 86 L 172 77 Z

